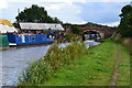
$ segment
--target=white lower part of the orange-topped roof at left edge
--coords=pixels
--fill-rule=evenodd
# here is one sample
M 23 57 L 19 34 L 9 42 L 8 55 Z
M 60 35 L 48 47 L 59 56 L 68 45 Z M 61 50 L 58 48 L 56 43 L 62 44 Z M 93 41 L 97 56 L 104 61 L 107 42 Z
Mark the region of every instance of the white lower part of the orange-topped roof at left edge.
M 18 30 L 14 26 L 0 24 L 0 33 L 13 33 L 13 32 L 18 32 Z

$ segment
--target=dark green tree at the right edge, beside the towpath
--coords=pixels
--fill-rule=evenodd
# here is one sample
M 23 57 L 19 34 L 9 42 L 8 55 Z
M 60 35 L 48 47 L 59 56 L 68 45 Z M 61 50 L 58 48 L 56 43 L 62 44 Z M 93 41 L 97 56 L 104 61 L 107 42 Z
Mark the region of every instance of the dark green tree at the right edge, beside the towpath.
M 132 37 L 132 7 L 128 4 L 122 8 L 121 12 L 121 22 L 118 26 L 119 33 L 122 37 Z

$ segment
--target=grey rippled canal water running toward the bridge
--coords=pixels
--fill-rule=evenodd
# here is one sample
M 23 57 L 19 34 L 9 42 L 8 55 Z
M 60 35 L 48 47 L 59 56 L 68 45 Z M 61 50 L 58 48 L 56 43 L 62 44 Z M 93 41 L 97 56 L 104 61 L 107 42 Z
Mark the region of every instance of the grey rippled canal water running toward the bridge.
M 69 43 L 62 43 L 59 47 L 65 47 Z M 98 45 L 94 41 L 86 41 L 87 47 Z M 18 77 L 31 62 L 44 56 L 51 45 L 33 47 L 11 47 L 0 51 L 0 86 L 15 86 Z

